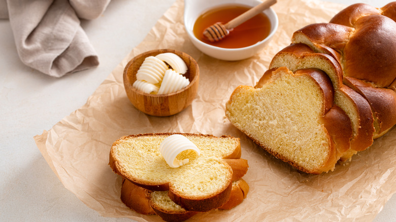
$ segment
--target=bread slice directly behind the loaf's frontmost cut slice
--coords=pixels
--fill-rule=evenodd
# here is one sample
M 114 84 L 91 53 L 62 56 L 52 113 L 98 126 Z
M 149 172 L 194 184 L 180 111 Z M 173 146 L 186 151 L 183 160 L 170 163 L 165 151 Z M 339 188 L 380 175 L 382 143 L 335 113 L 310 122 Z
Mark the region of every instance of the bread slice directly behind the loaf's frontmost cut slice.
M 346 112 L 352 123 L 353 135 L 350 148 L 354 151 L 363 151 L 373 143 L 375 129 L 370 104 L 360 94 L 343 84 L 343 71 L 334 57 L 316 53 L 305 44 L 291 44 L 274 56 L 269 68 L 282 66 L 286 66 L 291 71 L 302 68 L 323 70 L 333 82 L 334 103 Z

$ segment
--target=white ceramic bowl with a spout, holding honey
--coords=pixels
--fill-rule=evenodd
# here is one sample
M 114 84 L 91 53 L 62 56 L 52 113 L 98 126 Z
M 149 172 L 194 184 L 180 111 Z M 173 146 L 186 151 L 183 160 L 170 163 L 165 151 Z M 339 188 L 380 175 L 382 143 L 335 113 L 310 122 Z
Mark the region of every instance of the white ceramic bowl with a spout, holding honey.
M 275 11 L 271 8 L 263 11 L 271 22 L 271 30 L 270 34 L 267 36 L 266 39 L 262 41 L 248 46 L 244 48 L 237 48 L 237 49 L 225 49 L 220 47 L 211 46 L 204 42 L 198 40 L 192 29 L 194 27 L 195 20 L 207 10 L 214 8 L 216 6 L 225 5 L 225 4 L 240 4 L 245 6 L 254 7 L 258 4 L 262 3 L 259 0 L 185 0 L 184 1 L 184 26 L 187 30 L 187 34 L 192 41 L 192 44 L 201 52 L 212 56 L 217 59 L 221 60 L 228 60 L 228 61 L 235 61 L 235 60 L 242 60 L 249 58 L 256 54 L 259 50 L 261 50 L 264 46 L 266 46 L 272 36 L 275 34 L 276 29 L 278 28 L 278 16 L 276 15 Z

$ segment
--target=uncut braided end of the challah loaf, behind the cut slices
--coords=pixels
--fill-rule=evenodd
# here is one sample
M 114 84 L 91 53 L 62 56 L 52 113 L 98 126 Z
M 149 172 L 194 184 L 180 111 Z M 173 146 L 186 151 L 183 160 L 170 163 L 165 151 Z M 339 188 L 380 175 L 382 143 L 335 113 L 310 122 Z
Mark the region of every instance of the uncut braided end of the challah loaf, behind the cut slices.
M 308 25 L 292 36 L 316 52 L 331 48 L 344 71 L 343 82 L 365 97 L 374 117 L 374 138 L 396 124 L 396 2 L 377 9 L 351 5 L 330 23 Z M 388 88 L 388 89 L 383 89 Z M 391 89 L 391 90 L 389 90 Z

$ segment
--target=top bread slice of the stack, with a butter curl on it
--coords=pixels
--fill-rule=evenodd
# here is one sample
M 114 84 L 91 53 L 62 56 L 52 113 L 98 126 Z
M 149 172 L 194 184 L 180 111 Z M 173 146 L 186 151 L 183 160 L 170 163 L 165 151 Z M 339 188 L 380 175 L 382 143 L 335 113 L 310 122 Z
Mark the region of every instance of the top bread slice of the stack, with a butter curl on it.
M 169 191 L 171 200 L 188 211 L 209 211 L 223 205 L 229 199 L 233 181 L 233 169 L 224 159 L 247 164 L 240 159 L 240 140 L 231 136 L 179 133 L 192 141 L 201 155 L 190 157 L 181 167 L 171 168 L 159 153 L 159 145 L 172 134 L 121 137 L 111 147 L 110 167 L 140 187 Z

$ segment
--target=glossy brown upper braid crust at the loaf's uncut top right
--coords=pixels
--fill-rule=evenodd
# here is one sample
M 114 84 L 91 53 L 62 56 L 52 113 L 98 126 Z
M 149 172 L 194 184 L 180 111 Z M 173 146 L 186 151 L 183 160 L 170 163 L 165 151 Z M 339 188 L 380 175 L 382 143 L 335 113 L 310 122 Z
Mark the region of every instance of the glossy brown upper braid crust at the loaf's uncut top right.
M 293 33 L 293 43 L 321 52 L 323 46 L 340 52 L 344 75 L 396 89 L 396 3 L 381 9 L 351 5 L 330 23 L 311 24 Z

